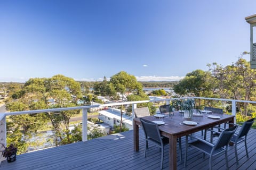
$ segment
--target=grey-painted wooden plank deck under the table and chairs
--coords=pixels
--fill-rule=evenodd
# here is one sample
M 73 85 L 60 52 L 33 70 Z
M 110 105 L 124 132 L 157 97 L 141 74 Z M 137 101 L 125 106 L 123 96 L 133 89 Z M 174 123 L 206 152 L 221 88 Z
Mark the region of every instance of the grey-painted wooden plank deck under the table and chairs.
M 196 135 L 200 135 L 198 132 Z M 247 139 L 249 158 L 246 158 L 244 145 L 238 145 L 239 165 L 236 165 L 234 147 L 229 147 L 229 169 L 256 169 L 256 130 L 249 132 Z M 177 148 L 179 148 L 177 146 Z M 140 130 L 140 151 L 133 150 L 133 131 L 109 135 L 87 142 L 30 152 L 17 156 L 13 163 L 5 160 L 0 170 L 39 170 L 39 169 L 159 169 L 161 151 L 149 144 L 147 157 L 144 158 L 144 134 Z M 165 149 L 164 169 L 169 169 L 168 146 Z M 185 137 L 182 137 L 182 149 L 185 149 Z M 187 167 L 178 156 L 178 169 L 209 169 L 209 157 L 203 159 L 202 152 L 188 149 Z M 184 156 L 184 152 L 183 152 Z M 226 169 L 225 157 L 214 157 L 213 169 Z

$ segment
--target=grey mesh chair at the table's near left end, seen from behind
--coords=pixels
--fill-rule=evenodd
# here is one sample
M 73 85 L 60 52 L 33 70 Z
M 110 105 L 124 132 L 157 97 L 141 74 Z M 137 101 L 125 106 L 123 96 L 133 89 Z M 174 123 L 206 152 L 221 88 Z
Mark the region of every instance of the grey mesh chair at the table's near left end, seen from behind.
M 145 132 L 146 137 L 146 148 L 145 148 L 145 158 L 147 154 L 148 149 L 148 141 L 151 141 L 156 146 L 161 148 L 161 169 L 163 169 L 163 162 L 164 162 L 164 146 L 169 143 L 169 138 L 163 137 L 160 134 L 160 131 L 158 129 L 158 125 L 154 122 L 145 120 L 143 118 L 140 118 L 143 130 Z

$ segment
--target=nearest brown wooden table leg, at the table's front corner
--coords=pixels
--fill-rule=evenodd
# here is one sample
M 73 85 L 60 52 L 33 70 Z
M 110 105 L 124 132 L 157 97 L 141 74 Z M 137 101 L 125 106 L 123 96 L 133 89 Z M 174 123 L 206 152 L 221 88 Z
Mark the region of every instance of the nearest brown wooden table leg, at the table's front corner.
M 169 137 L 169 169 L 177 169 L 177 137 L 171 135 Z

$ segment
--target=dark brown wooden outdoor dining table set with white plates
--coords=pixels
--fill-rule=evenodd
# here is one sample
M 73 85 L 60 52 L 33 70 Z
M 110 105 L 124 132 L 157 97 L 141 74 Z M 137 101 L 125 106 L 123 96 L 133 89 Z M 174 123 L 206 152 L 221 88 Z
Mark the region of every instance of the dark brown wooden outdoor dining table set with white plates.
M 217 115 L 220 118 L 210 118 L 209 115 Z M 207 128 L 212 128 L 221 123 L 229 122 L 234 123 L 234 115 L 227 114 L 202 114 L 196 115 L 186 120 L 182 114 L 175 112 L 172 117 L 158 118 L 155 116 L 143 117 L 149 121 L 164 121 L 165 124 L 159 125 L 161 135 L 169 138 L 169 167 L 170 169 L 177 169 L 177 138 L 186 136 L 188 134 L 201 131 Z M 196 125 L 185 125 L 183 121 L 193 121 Z M 133 145 L 134 150 L 139 151 L 139 125 L 141 125 L 140 118 L 133 118 Z M 229 127 L 233 125 L 229 124 Z

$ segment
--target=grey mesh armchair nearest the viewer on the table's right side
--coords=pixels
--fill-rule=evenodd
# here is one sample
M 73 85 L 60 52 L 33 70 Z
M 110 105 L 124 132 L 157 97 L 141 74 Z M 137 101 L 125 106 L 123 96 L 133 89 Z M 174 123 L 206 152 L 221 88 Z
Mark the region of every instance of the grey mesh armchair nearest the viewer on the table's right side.
M 187 152 L 188 152 L 188 146 L 191 146 L 195 149 L 198 149 L 203 152 L 203 154 L 207 154 L 210 156 L 209 158 L 209 166 L 210 170 L 212 169 L 212 157 L 216 155 L 220 155 L 225 153 L 225 159 L 226 159 L 226 167 L 228 169 L 228 145 L 233 137 L 233 134 L 235 133 L 237 129 L 237 126 L 234 125 L 233 127 L 226 129 L 224 131 L 221 131 L 219 135 L 219 139 L 215 144 L 203 140 L 201 138 L 194 137 L 193 135 L 187 135 L 186 136 L 186 150 L 185 150 L 185 162 L 184 166 L 187 166 Z M 218 133 L 218 132 L 217 132 Z M 188 143 L 188 137 L 195 138 L 196 141 Z

